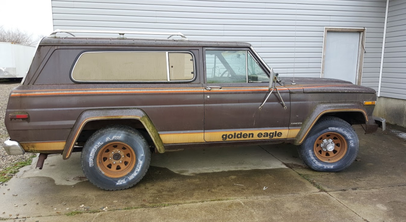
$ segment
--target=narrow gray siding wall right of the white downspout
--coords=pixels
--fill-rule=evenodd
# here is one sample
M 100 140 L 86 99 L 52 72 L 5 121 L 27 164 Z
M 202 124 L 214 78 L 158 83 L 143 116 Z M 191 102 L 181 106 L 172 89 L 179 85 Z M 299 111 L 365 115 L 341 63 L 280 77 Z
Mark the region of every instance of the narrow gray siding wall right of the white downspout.
M 406 1 L 389 2 L 381 95 L 406 99 Z

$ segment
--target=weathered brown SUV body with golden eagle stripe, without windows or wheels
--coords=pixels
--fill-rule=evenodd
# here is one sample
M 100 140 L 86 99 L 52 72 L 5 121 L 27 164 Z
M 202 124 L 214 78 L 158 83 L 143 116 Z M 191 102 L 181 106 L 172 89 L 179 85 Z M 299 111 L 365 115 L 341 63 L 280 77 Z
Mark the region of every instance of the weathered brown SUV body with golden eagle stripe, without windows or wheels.
M 266 70 L 247 43 L 45 38 L 23 85 L 11 92 L 5 118 L 10 139 L 25 152 L 63 153 L 67 159 L 95 130 L 117 123 L 144 131 L 159 153 L 202 144 L 300 144 L 323 115 L 365 124 L 366 133 L 377 129 L 371 117 L 374 105 L 362 103 L 375 101 L 375 91 L 345 81 L 286 78 L 277 88 L 287 109 L 273 94 L 259 110 L 269 83 L 207 83 L 205 50 L 213 49 L 248 51 Z M 75 61 L 90 51 L 190 52 L 195 78 L 176 83 L 77 83 L 71 78 Z M 210 86 L 221 88 L 206 90 Z M 29 118 L 9 119 L 16 113 Z M 254 136 L 247 138 L 250 133 Z

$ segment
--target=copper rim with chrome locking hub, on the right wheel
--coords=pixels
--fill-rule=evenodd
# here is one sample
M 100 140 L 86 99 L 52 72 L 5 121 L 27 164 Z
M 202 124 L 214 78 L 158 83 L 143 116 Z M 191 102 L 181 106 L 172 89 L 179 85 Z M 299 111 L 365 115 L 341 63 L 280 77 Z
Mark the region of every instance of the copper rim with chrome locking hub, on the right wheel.
M 341 160 L 347 153 L 347 140 L 339 133 L 323 133 L 317 137 L 313 150 L 319 160 L 334 163 Z

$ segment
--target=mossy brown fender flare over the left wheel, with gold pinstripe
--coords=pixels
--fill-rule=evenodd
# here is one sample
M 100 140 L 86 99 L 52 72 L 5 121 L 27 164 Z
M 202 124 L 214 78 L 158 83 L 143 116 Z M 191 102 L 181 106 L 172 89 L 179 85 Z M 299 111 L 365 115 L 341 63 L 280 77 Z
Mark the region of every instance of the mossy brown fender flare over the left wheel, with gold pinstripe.
M 69 159 L 76 140 L 78 139 L 83 127 L 86 123 L 95 120 L 107 120 L 107 119 L 136 119 L 139 120 L 150 134 L 152 141 L 155 143 L 155 147 L 159 153 L 165 152 L 161 137 L 158 131 L 155 129 L 151 119 L 147 116 L 142 109 L 139 108 L 119 108 L 119 109 L 88 109 L 85 110 L 79 118 L 76 120 L 71 133 L 67 137 L 65 147 L 62 152 L 64 160 Z

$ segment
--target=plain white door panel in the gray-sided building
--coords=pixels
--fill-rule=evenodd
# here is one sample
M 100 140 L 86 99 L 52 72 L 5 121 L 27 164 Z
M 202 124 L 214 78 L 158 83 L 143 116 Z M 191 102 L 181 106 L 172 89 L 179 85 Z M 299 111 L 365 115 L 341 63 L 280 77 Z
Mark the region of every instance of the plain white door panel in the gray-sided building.
M 327 31 L 324 78 L 356 83 L 359 35 L 360 32 Z

